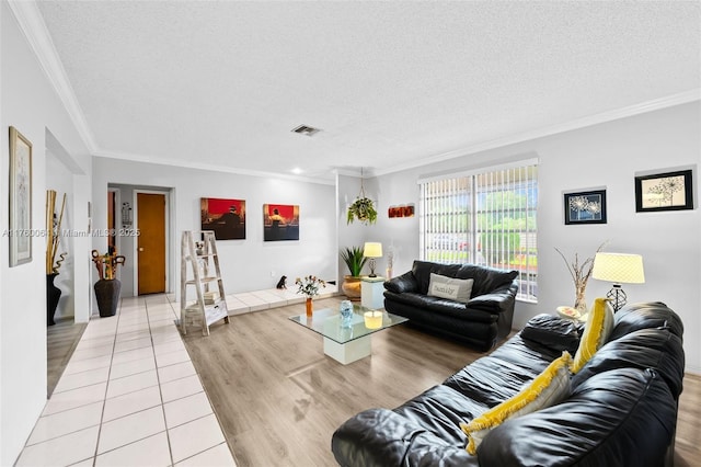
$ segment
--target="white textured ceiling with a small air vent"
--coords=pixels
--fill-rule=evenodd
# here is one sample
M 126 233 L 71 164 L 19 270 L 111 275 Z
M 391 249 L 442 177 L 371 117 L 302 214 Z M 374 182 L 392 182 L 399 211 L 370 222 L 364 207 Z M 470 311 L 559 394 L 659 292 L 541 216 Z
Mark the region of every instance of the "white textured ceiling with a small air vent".
M 37 4 L 100 156 L 383 173 L 701 87 L 697 1 Z

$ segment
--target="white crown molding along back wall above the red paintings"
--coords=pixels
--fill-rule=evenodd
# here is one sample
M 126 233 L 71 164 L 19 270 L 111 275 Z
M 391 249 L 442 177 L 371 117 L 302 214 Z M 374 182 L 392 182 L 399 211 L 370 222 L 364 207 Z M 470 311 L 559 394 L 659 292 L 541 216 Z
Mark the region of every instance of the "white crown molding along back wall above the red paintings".
M 246 170 L 246 169 L 237 169 L 233 167 L 227 166 L 218 166 L 214 163 L 200 163 L 200 162 L 192 162 L 192 161 L 181 161 L 173 159 L 161 159 L 152 156 L 142 156 L 135 155 L 129 152 L 116 152 L 116 151 L 104 151 L 97 150 L 93 153 L 94 157 L 105 158 L 105 159 L 116 159 L 116 160 L 127 160 L 131 162 L 141 162 L 141 163 L 152 163 L 157 166 L 169 166 L 169 167 L 180 167 L 183 169 L 196 169 L 196 170 L 207 170 L 211 172 L 225 172 L 225 173 L 234 173 L 237 175 L 248 175 L 248 176 L 261 176 L 264 179 L 278 179 L 278 180 L 290 180 L 295 182 L 307 182 L 307 183 L 317 183 L 321 185 L 333 185 L 335 184 L 334 180 L 325 179 L 325 178 L 311 178 L 311 176 L 300 176 L 300 175 L 288 175 L 285 173 L 278 172 L 264 172 L 257 170 Z

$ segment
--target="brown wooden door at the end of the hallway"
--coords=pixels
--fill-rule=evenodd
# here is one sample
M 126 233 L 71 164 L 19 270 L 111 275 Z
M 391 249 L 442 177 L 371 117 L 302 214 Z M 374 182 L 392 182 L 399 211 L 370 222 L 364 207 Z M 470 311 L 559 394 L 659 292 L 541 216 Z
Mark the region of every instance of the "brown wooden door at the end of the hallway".
M 137 193 L 138 295 L 165 292 L 165 195 Z

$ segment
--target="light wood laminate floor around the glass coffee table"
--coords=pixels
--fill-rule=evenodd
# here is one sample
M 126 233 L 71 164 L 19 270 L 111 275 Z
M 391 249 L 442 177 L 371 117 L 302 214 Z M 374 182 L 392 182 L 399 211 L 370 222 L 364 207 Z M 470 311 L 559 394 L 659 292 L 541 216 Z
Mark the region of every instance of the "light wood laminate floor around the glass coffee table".
M 340 298 L 314 303 L 337 307 Z M 291 322 L 291 305 L 231 318 L 184 338 L 239 466 L 333 466 L 331 435 L 353 414 L 394 408 L 482 356 L 401 324 L 372 334 L 372 356 L 326 357 L 322 338 Z M 701 376 L 687 376 L 676 466 L 701 459 Z

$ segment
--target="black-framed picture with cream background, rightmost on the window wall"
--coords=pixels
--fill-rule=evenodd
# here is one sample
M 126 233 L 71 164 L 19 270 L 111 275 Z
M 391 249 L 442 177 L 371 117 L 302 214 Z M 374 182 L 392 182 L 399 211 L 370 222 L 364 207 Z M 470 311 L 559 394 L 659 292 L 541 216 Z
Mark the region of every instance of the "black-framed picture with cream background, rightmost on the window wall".
M 693 209 L 691 170 L 635 178 L 635 212 Z

